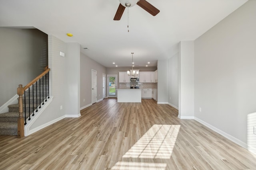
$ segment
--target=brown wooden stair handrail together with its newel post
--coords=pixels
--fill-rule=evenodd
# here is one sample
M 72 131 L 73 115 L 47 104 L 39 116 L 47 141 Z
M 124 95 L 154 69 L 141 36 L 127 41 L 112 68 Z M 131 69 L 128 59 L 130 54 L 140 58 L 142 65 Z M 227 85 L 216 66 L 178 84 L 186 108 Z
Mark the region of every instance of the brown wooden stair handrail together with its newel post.
M 23 103 L 22 96 L 24 92 L 32 86 L 35 82 L 37 82 L 42 76 L 50 71 L 50 68 L 46 66 L 44 68 L 44 72 L 42 72 L 39 76 L 34 78 L 30 83 L 28 83 L 25 87 L 22 87 L 22 84 L 17 88 L 17 94 L 19 95 L 19 117 L 18 117 L 18 138 L 24 137 L 24 117 L 23 117 Z

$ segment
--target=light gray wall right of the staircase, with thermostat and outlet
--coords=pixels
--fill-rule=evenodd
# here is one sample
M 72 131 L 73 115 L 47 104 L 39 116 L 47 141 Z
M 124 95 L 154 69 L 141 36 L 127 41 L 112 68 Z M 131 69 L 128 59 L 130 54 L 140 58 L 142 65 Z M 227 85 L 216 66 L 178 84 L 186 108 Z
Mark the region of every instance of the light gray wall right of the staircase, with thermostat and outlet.
M 30 130 L 40 129 L 65 117 L 80 116 L 80 45 L 65 43 L 52 35 L 48 36 L 48 44 L 50 96 L 53 99 Z M 65 53 L 65 57 L 59 55 L 60 51 Z

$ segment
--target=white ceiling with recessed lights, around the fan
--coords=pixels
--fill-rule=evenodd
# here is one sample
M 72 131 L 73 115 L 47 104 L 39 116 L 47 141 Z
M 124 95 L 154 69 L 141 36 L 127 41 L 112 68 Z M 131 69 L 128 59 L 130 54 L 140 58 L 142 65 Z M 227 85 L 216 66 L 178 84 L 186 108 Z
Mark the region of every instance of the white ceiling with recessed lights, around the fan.
M 156 16 L 135 5 L 114 21 L 118 0 L 0 0 L 0 27 L 36 27 L 106 67 L 156 66 L 178 52 L 178 42 L 194 40 L 247 0 L 147 0 Z M 66 33 L 72 33 L 68 37 Z M 112 64 L 115 62 L 116 64 Z

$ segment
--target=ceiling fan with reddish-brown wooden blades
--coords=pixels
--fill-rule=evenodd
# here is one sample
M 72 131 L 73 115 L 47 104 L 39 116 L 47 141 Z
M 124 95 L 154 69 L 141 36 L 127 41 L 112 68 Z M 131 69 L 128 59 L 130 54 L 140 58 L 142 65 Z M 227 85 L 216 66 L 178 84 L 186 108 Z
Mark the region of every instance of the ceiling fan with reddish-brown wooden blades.
M 119 1 L 120 1 L 120 4 L 116 11 L 114 20 L 120 20 L 124 13 L 124 9 L 126 7 L 127 8 L 132 7 L 136 4 L 141 8 L 143 8 L 144 10 L 146 10 L 146 12 L 150 13 L 152 16 L 156 16 L 156 14 L 160 12 L 156 7 L 152 6 L 146 0 L 119 0 Z

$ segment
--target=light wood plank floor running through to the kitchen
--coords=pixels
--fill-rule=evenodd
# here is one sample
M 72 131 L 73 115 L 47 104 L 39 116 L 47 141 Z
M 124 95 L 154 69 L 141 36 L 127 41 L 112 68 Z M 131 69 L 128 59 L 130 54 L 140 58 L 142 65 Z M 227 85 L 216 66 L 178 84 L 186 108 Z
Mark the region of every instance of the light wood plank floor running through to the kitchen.
M 256 156 L 167 104 L 104 99 L 28 137 L 0 136 L 0 170 L 256 170 Z

